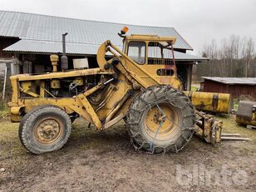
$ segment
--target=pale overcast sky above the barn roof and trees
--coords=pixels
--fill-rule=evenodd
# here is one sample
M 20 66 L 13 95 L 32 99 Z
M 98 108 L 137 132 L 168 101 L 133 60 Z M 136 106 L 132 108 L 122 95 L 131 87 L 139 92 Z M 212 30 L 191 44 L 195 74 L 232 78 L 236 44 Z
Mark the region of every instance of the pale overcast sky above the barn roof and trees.
M 256 0 L 0 0 L 0 10 L 175 27 L 198 55 L 205 43 L 238 35 L 256 44 Z

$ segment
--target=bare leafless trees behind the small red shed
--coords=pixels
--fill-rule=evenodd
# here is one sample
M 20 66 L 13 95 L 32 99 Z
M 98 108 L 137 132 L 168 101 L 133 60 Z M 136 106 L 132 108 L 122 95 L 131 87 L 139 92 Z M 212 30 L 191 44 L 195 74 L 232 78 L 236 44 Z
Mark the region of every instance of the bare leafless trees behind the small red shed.
M 205 43 L 202 56 L 209 62 L 199 64 L 198 76 L 256 76 L 256 54 L 252 38 L 232 35 L 219 43 Z

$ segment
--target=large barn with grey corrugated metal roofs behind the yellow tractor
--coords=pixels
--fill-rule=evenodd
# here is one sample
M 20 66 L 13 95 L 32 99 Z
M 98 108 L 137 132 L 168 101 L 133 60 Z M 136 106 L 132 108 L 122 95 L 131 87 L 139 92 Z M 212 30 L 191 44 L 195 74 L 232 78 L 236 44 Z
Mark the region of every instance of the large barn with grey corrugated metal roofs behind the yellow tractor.
M 117 32 L 124 26 L 130 29 L 128 35 L 176 37 L 174 48 L 178 75 L 185 89 L 190 89 L 193 64 L 206 58 L 187 54 L 193 48 L 174 27 L 138 26 L 0 11 L 0 59 L 16 63 L 16 66 L 12 66 L 12 73 L 51 71 L 49 55 L 62 54 L 62 34 L 68 32 L 66 55 L 69 57 L 70 68 L 72 59 L 84 57 L 88 58 L 90 67 L 96 67 L 96 52 L 102 42 L 111 40 L 117 47 L 122 47 L 122 39 Z

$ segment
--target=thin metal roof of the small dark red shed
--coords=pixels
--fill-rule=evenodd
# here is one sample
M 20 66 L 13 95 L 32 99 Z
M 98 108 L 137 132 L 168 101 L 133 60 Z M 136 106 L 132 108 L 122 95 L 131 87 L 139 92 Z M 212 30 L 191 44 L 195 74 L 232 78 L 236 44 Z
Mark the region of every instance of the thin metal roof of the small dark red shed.
M 252 78 L 245 78 L 245 77 L 212 77 L 212 76 L 202 76 L 202 78 L 210 80 L 210 81 L 217 81 L 220 83 L 224 83 L 227 85 L 256 85 L 256 77 Z

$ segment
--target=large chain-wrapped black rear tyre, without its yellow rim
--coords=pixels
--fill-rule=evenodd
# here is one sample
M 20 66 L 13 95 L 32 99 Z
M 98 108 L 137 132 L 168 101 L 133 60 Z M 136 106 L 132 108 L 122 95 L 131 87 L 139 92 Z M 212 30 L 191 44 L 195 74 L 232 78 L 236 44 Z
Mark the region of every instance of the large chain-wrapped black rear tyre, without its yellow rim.
M 180 130 L 180 137 L 173 143 L 155 145 L 154 149 L 151 150 L 150 140 L 146 140 L 145 136 L 140 132 L 140 121 L 145 107 L 163 101 L 169 102 L 170 105 L 180 109 L 182 129 Z M 194 134 L 194 118 L 194 106 L 189 98 L 185 96 L 185 93 L 176 90 L 172 86 L 150 86 L 141 91 L 131 101 L 126 116 L 126 127 L 130 135 L 130 142 L 134 145 L 135 150 L 145 150 L 150 153 L 165 153 L 167 151 L 177 153 L 185 147 Z

